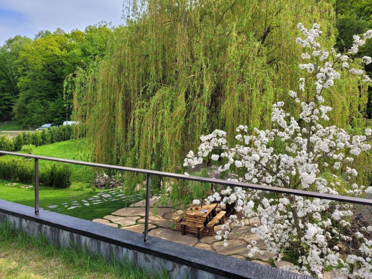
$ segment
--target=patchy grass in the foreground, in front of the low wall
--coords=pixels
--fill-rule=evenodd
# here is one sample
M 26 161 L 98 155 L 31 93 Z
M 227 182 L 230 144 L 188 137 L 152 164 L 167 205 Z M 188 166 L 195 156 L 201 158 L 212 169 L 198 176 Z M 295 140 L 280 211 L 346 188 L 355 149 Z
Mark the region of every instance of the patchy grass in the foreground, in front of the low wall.
M 150 274 L 127 261 L 108 262 L 99 254 L 89 254 L 80 247 L 57 247 L 45 237 L 30 237 L 0 226 L 0 278 L 169 278 Z

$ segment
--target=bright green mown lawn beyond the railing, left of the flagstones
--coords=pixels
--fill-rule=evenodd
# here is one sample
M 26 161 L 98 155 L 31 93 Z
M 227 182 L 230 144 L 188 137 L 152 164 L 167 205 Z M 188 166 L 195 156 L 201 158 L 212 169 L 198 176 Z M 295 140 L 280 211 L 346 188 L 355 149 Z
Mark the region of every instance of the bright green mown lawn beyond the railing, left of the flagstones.
M 84 160 L 83 155 L 78 150 L 77 144 L 73 141 L 41 145 L 35 148 L 33 154 L 73 160 Z M 0 157 L 0 160 L 9 160 L 12 157 L 16 156 L 3 156 Z M 51 161 L 40 160 L 39 168 L 45 168 L 47 164 L 53 163 L 54 162 Z M 41 208 L 49 209 L 47 206 L 58 205 L 58 207 L 61 208 L 59 213 L 81 219 L 92 220 L 102 218 L 105 215 L 109 215 L 112 212 L 127 207 L 130 203 L 133 203 L 133 201 L 108 200 L 103 203 L 81 206 L 74 209 L 67 209 L 64 205 L 61 206 L 61 203 L 65 202 L 71 204 L 73 201 L 78 201 L 81 203 L 82 199 L 87 200 L 99 192 L 104 192 L 92 185 L 94 174 L 90 167 L 72 164 L 70 164 L 70 167 L 73 169 L 73 175 L 71 179 L 72 184 L 69 188 L 57 189 L 42 185 L 39 186 L 39 206 Z M 13 181 L 0 180 L 0 199 L 20 203 L 22 205 L 34 206 L 34 189 L 22 189 L 20 187 L 25 184 L 33 185 L 33 183 L 18 183 L 15 186 L 6 186 L 8 183 L 13 183 Z M 58 207 L 51 209 L 51 211 L 57 211 Z

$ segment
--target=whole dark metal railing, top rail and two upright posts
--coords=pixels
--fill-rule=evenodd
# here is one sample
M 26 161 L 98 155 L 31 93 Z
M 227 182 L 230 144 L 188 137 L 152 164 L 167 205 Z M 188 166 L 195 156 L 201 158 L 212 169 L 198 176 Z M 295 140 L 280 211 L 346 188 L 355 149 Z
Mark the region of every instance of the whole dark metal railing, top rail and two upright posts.
M 32 154 L 15 153 L 15 152 L 8 152 L 8 151 L 1 151 L 1 150 L 0 150 L 0 154 L 35 159 L 35 214 L 39 213 L 39 160 L 47 160 L 47 161 L 54 161 L 54 162 L 59 162 L 59 163 L 96 167 L 96 168 L 101 168 L 101 169 L 120 170 L 120 171 L 129 171 L 133 173 L 147 174 L 146 206 L 145 206 L 145 237 L 144 237 L 145 242 L 148 239 L 148 218 L 150 214 L 149 211 L 150 211 L 151 175 L 372 206 L 372 200 L 364 199 L 364 198 L 355 198 L 355 197 L 349 197 L 349 196 L 317 193 L 317 192 L 310 192 L 310 191 L 305 191 L 305 190 L 287 189 L 287 188 L 280 188 L 280 187 L 274 187 L 274 186 L 263 186 L 263 185 L 257 185 L 257 184 L 251 184 L 251 183 L 227 181 L 227 180 L 222 180 L 222 179 L 211 179 L 211 178 L 199 177 L 199 176 L 188 176 L 185 174 L 168 173 L 168 172 L 157 171 L 157 170 L 146 170 L 146 169 L 137 169 L 137 168 L 131 168 L 131 167 L 114 166 L 114 165 L 108 165 L 108 164 L 89 163 L 85 161 L 68 160 L 68 159 L 46 157 L 46 156 L 39 156 L 39 155 L 32 155 Z

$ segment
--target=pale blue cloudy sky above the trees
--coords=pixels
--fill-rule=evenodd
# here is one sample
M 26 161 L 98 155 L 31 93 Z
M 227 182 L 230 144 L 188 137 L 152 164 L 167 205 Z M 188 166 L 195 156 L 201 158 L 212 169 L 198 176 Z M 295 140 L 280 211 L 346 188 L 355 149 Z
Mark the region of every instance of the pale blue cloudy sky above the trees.
M 123 0 L 0 0 L 0 45 L 40 30 L 84 30 L 100 21 L 122 23 Z

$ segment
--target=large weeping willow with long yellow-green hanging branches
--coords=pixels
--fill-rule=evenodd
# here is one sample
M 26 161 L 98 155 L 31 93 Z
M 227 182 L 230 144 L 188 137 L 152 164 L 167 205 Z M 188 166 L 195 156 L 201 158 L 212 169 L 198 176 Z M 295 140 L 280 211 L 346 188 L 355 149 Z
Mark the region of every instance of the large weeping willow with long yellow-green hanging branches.
M 93 161 L 154 170 L 182 171 L 199 136 L 216 128 L 228 135 L 240 124 L 268 128 L 272 103 L 288 100 L 299 78 L 296 24 L 319 23 L 331 42 L 337 32 L 325 0 L 134 0 L 127 7 L 108 54 L 66 88 Z M 357 79 L 325 98 L 335 124 L 364 126 L 366 89 Z

